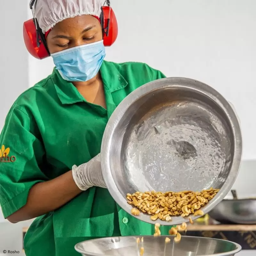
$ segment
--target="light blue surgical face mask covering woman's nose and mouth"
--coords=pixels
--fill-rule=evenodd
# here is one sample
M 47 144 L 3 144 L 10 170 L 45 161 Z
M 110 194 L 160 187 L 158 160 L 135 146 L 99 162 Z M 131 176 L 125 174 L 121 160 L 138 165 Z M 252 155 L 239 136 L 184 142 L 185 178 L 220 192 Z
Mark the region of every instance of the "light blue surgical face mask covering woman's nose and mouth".
M 102 40 L 56 52 L 51 56 L 63 79 L 85 82 L 97 75 L 106 52 Z

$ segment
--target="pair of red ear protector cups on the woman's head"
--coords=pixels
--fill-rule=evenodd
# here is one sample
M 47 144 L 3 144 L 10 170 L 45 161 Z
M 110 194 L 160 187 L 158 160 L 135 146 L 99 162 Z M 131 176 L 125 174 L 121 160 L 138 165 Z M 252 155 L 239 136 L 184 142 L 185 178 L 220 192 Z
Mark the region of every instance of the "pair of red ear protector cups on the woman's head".
M 86 1 L 86 0 L 85 0 Z M 23 24 L 23 38 L 28 52 L 37 59 L 44 59 L 50 56 L 47 48 L 46 38 L 39 28 L 38 21 L 34 12 L 36 0 L 30 1 L 30 9 L 33 13 L 33 19 L 27 20 Z M 105 5 L 107 4 L 107 5 Z M 101 7 L 100 24 L 102 27 L 103 43 L 105 46 L 111 46 L 115 43 L 118 33 L 116 15 L 110 7 L 109 0 L 106 0 Z

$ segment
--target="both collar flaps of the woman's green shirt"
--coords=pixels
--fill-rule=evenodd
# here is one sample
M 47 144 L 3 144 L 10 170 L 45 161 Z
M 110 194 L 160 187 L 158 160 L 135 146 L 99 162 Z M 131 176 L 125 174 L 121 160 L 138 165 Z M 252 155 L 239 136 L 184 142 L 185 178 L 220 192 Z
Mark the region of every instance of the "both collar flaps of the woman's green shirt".
M 128 84 L 113 62 L 103 61 L 100 67 L 100 74 L 103 84 L 109 92 L 120 90 Z M 71 82 L 64 80 L 56 68 L 54 68 L 51 77 L 62 104 L 85 101 L 76 87 Z

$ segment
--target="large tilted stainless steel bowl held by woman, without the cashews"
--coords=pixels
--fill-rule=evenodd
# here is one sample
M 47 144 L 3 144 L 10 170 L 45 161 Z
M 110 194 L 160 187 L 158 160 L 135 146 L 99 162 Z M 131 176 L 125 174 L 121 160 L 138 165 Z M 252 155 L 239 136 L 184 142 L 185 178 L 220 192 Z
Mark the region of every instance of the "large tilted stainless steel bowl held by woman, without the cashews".
M 207 213 L 231 189 L 241 158 L 242 135 L 232 107 L 212 87 L 188 78 L 156 80 L 129 94 L 110 117 L 101 146 L 108 190 L 128 213 L 127 193 L 220 188 L 204 206 Z M 135 217 L 154 223 L 147 214 Z

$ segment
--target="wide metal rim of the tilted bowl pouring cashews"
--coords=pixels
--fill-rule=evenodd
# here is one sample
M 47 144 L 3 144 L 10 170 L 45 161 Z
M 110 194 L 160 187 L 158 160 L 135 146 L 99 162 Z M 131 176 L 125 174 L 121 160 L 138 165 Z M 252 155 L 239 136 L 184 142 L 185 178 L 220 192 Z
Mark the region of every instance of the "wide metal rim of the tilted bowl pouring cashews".
M 116 107 L 113 114 L 110 116 L 108 120 L 107 126 L 103 134 L 102 144 L 101 144 L 101 153 L 100 153 L 101 169 L 102 169 L 103 177 L 107 185 L 108 191 L 110 195 L 114 198 L 116 203 L 125 212 L 130 214 L 132 217 L 135 217 L 139 220 L 142 220 L 150 224 L 155 224 L 156 221 L 150 220 L 149 215 L 142 212 L 140 213 L 140 215 L 137 215 L 137 216 L 132 215 L 131 213 L 132 205 L 127 204 L 127 200 L 120 193 L 116 193 L 119 190 L 116 186 L 115 180 L 113 179 L 113 176 L 111 173 L 111 168 L 110 168 L 111 156 L 109 151 L 111 148 L 111 138 L 113 137 L 115 127 L 120 122 L 120 119 L 124 116 L 125 112 L 132 105 L 132 103 L 138 100 L 139 98 L 145 96 L 148 92 L 154 92 L 156 90 L 165 89 L 165 88 L 177 88 L 177 89 L 184 88 L 184 89 L 193 90 L 200 94 L 204 94 L 204 96 L 216 102 L 216 104 L 218 104 L 219 107 L 222 109 L 222 111 L 225 113 L 225 115 L 227 116 L 230 122 L 230 127 L 234 134 L 234 158 L 233 158 L 231 170 L 228 174 L 226 181 L 220 188 L 220 191 L 218 192 L 218 194 L 208 204 L 202 207 L 204 214 L 210 212 L 217 204 L 219 204 L 232 188 L 239 172 L 239 168 L 242 161 L 242 153 L 243 153 L 242 132 L 241 132 L 241 127 L 240 127 L 237 115 L 234 109 L 229 104 L 229 102 L 211 86 L 191 78 L 166 77 L 166 78 L 158 79 L 158 80 L 149 82 L 147 84 L 144 84 L 139 88 L 137 88 L 136 90 L 134 90 L 133 92 L 131 92 Z M 131 191 L 127 191 L 127 193 L 131 193 Z M 190 214 L 188 217 L 191 217 L 192 220 L 195 220 L 201 216 L 194 216 Z M 188 217 L 183 218 L 181 216 L 178 216 L 178 217 L 172 217 L 172 221 L 170 222 L 166 222 L 163 220 L 157 220 L 157 222 L 160 225 L 166 225 L 166 226 L 177 225 L 177 224 L 181 224 L 182 222 L 188 222 L 189 221 Z

